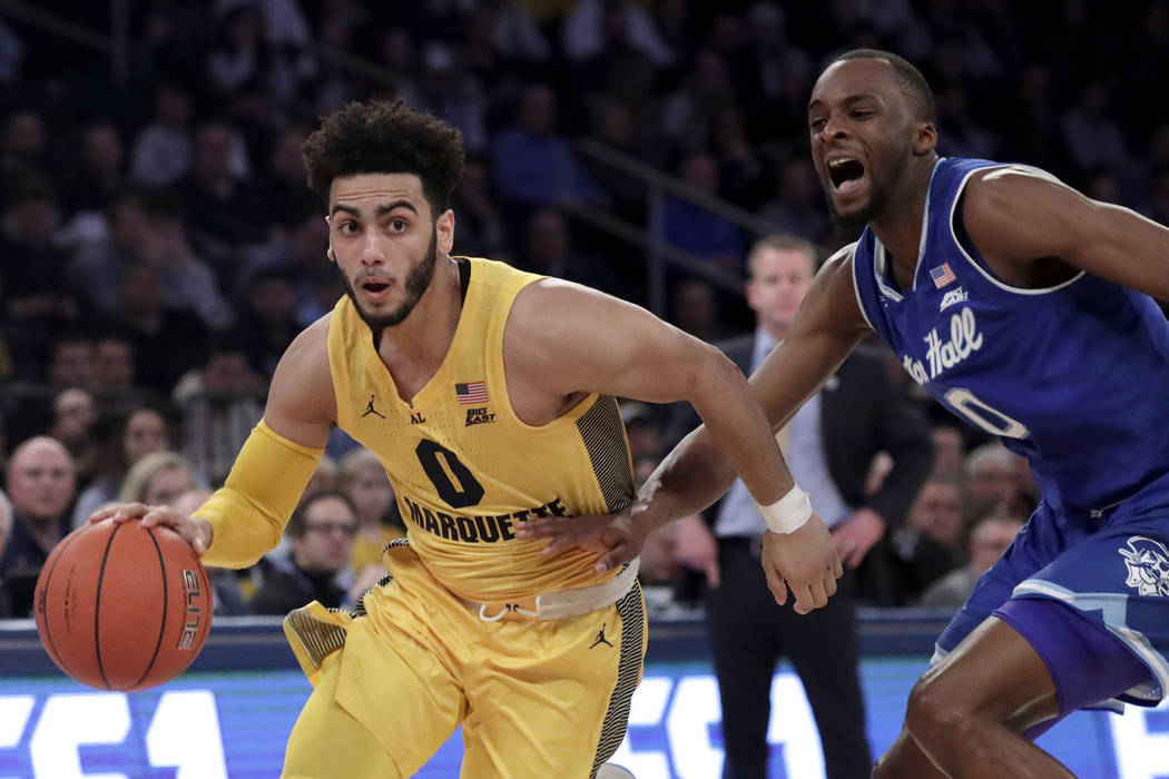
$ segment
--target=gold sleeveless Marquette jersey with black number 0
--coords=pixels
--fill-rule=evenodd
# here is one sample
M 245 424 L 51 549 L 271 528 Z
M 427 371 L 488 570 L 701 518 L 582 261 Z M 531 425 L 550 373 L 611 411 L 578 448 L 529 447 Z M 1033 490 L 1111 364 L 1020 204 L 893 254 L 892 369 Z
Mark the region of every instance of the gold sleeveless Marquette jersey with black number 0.
M 514 537 L 538 516 L 607 514 L 634 496 L 629 443 L 613 397 L 590 395 L 542 425 L 521 422 L 504 378 L 504 326 L 541 277 L 471 258 L 455 338 L 438 371 L 402 401 L 353 302 L 328 327 L 338 424 L 386 466 L 410 547 L 438 582 L 475 600 L 597 584 L 595 552 L 540 556 Z M 555 366 L 549 366 L 555 370 Z

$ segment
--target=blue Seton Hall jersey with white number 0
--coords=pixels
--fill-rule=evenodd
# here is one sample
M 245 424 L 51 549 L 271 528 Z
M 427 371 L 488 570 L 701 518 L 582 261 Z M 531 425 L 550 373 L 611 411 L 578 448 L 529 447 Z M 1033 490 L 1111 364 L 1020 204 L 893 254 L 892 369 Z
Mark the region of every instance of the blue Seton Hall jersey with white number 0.
M 1079 522 L 1169 473 L 1169 322 L 1149 297 L 1082 272 L 1043 290 L 1001 281 L 959 208 L 992 166 L 934 167 L 909 290 L 865 228 L 857 299 L 914 381 L 1026 457 L 1047 505 Z

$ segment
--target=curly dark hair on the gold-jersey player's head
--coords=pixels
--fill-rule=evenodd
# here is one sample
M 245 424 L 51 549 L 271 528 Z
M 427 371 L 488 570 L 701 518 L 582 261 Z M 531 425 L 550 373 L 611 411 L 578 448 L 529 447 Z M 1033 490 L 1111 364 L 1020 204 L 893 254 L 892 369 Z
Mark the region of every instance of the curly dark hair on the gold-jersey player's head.
M 401 100 L 350 103 L 304 142 L 309 187 L 321 197 L 339 176 L 413 173 L 435 216 L 450 207 L 465 158 L 457 127 Z

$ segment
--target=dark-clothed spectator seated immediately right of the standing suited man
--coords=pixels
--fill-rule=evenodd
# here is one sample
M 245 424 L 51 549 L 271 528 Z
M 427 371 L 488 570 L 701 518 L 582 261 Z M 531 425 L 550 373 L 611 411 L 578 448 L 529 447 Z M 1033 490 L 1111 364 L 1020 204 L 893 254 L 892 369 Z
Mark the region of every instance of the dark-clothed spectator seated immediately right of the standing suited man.
M 964 543 L 961 481 L 934 474 L 918 493 L 906 523 L 890 538 L 888 580 L 867 592 L 866 599 L 877 606 L 908 605 L 962 564 Z

